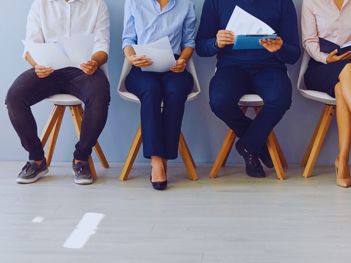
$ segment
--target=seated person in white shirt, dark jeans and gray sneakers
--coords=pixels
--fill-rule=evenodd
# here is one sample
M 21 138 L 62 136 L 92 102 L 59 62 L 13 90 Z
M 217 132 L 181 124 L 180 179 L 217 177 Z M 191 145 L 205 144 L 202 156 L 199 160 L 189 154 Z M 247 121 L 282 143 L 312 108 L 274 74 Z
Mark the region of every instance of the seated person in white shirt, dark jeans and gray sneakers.
M 110 48 L 107 6 L 102 0 L 35 0 L 27 17 L 26 41 L 34 43 L 57 43 L 61 36 L 92 33 L 95 33 L 93 55 L 91 61 L 80 65 L 81 69 L 45 68 L 35 63 L 25 49 L 23 58 L 33 68 L 22 73 L 6 95 L 11 123 L 29 152 L 29 162 L 18 175 L 18 183 L 35 182 L 48 172 L 31 106 L 57 93 L 72 94 L 84 102 L 85 114 L 72 169 L 75 183 L 93 182 L 87 161 L 104 129 L 110 103 L 110 84 L 99 68 L 106 63 Z

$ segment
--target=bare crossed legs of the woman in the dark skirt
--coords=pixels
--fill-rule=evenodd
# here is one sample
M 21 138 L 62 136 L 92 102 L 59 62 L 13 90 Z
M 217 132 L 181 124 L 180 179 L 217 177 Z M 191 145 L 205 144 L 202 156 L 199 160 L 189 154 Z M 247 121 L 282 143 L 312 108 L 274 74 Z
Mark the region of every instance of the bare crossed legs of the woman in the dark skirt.
M 335 86 L 337 122 L 339 129 L 338 178 L 350 178 L 349 155 L 351 144 L 351 63 L 346 64 Z M 339 108 L 340 106 L 340 108 Z M 348 110 L 346 110 L 346 106 Z

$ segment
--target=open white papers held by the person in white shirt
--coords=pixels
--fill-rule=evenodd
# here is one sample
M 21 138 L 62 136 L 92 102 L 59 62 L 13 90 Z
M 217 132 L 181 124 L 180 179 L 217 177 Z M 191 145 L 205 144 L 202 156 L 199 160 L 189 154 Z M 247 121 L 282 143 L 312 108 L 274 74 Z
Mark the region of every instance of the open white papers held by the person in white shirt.
M 95 34 L 69 36 L 55 43 L 33 43 L 22 40 L 33 60 L 40 66 L 54 70 L 66 67 L 81 68 L 91 61 Z

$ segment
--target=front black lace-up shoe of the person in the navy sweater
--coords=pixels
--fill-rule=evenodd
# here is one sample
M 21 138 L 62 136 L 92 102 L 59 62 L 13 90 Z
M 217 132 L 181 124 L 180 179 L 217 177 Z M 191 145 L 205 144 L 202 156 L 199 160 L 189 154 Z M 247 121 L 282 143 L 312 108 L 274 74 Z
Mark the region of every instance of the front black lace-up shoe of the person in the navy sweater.
M 266 174 L 263 170 L 263 167 L 260 163 L 260 160 L 258 159 L 258 155 L 257 153 L 248 153 L 245 149 L 244 149 L 244 145 L 243 145 L 243 140 L 239 139 L 236 143 L 235 143 L 235 148 L 237 149 L 238 153 L 240 154 L 240 156 L 244 157 L 245 160 L 245 170 L 246 170 L 246 174 L 251 176 L 251 177 L 255 177 L 255 178 L 263 178 L 266 177 Z

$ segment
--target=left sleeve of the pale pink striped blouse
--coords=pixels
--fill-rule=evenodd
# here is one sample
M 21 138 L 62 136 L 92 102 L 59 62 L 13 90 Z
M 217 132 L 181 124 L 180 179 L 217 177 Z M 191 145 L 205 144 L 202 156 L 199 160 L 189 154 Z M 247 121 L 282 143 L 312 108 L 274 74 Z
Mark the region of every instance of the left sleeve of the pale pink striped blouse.
M 329 54 L 319 50 L 316 16 L 310 3 L 305 2 L 303 2 L 301 11 L 302 45 L 312 58 L 326 64 Z

